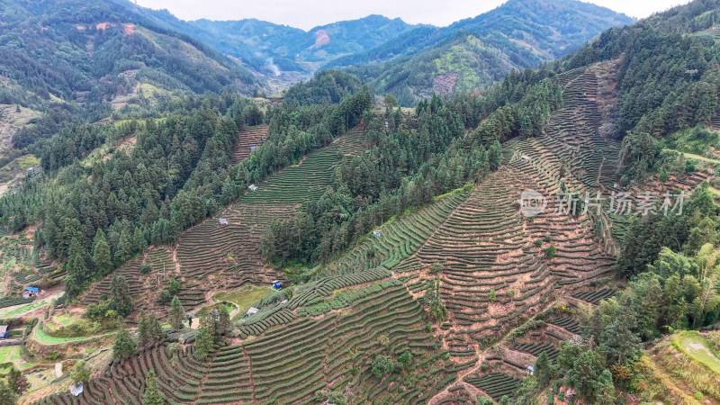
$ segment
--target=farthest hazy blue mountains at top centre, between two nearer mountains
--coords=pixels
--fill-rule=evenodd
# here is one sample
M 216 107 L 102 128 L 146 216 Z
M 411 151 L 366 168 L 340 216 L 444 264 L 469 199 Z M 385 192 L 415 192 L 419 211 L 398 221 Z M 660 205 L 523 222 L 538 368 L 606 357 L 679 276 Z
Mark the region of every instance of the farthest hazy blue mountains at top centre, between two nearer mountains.
M 330 23 L 310 31 L 257 19 L 185 22 L 166 10 L 150 10 L 128 0 L 118 2 L 149 21 L 184 32 L 237 58 L 244 66 L 267 76 L 280 87 L 310 78 L 318 67 L 335 58 L 373 49 L 417 27 L 400 18 L 382 15 Z

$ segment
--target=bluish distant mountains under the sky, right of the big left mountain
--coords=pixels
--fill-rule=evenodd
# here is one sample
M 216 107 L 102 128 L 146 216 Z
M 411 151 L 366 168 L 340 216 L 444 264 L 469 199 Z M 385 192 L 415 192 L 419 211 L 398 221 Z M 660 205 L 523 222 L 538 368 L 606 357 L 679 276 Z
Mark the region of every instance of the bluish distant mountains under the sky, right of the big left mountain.
M 118 2 L 237 58 L 275 88 L 320 68 L 349 67 L 378 92 L 396 94 L 405 104 L 433 90 L 490 85 L 512 68 L 537 67 L 578 49 L 600 31 L 635 21 L 575 0 L 510 0 L 444 28 L 369 15 L 302 31 L 255 19 L 184 22 L 166 10 Z

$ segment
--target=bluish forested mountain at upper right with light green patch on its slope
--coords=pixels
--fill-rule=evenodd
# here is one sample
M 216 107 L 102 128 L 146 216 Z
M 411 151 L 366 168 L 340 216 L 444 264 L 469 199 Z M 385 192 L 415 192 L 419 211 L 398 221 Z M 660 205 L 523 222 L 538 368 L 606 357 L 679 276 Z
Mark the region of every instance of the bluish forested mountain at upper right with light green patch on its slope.
M 513 68 L 538 67 L 608 27 L 633 21 L 574 0 L 510 0 L 448 27 L 406 32 L 325 67 L 347 67 L 379 93 L 392 93 L 403 105 L 411 105 L 434 91 L 451 94 L 486 87 Z

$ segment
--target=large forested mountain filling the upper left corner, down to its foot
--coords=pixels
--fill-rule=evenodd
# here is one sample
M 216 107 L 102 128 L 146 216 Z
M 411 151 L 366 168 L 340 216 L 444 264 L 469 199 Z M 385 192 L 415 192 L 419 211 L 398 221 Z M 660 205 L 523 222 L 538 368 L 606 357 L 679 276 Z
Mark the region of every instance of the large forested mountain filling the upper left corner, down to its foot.
M 263 80 L 111 1 L 2 1 L 0 105 L 15 151 L 81 122 L 152 115 L 188 94 L 251 94 Z M 5 164 L 6 162 L 2 162 Z

